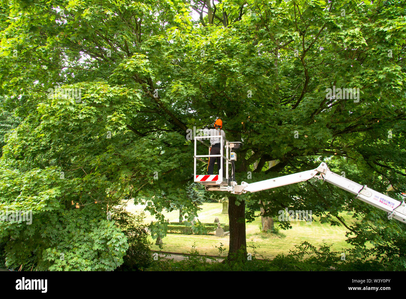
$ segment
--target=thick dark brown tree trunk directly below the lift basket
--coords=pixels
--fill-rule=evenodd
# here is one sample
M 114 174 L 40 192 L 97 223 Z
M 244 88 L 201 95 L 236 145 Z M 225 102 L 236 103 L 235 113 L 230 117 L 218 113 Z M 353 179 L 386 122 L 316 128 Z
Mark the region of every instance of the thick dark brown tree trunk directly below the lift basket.
M 236 260 L 239 249 L 243 249 L 241 258 L 246 259 L 247 242 L 245 236 L 245 201 L 240 205 L 235 205 L 237 197 L 235 194 L 229 195 L 229 224 L 230 224 L 230 249 L 228 260 Z M 240 220 L 240 221 L 238 221 Z

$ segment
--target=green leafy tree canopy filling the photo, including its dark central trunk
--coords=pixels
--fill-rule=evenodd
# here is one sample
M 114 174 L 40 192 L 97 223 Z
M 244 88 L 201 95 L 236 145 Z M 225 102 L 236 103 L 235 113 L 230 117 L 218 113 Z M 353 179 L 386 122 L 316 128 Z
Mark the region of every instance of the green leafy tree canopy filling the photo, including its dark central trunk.
M 33 210 L 32 225 L 0 223 L 10 264 L 49 268 L 65 253 L 77 256 L 66 269 L 118 266 L 127 247 L 108 210 L 123 199 L 157 216 L 154 236 L 173 205 L 192 220 L 187 130 L 216 118 L 244 142 L 238 182 L 326 161 L 397 199 L 404 191 L 401 1 L 8 1 L 0 15 L 0 94 L 22 119 L 3 148 L 0 208 Z M 269 216 L 297 207 L 346 225 L 354 255 L 406 265 L 404 224 L 319 181 L 229 201 L 230 253 L 259 205 Z M 347 225 L 343 210 L 359 220 Z

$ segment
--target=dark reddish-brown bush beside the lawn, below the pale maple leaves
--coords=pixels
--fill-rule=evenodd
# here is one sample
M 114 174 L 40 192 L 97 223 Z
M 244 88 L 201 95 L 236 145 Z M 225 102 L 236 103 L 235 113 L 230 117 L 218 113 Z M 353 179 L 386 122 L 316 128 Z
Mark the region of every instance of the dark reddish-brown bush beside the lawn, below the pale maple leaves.
M 152 255 L 149 246 L 152 244 L 148 240 L 147 225 L 144 222 L 145 214 L 134 216 L 124 209 L 113 209 L 112 220 L 127 236 L 129 248 L 123 257 L 123 264 L 116 270 L 136 271 L 147 268 L 152 262 Z

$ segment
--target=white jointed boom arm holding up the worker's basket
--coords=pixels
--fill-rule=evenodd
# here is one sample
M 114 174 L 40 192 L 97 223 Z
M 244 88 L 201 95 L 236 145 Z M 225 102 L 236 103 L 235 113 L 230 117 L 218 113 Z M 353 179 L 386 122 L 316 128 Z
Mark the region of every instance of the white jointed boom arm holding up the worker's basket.
M 246 193 L 247 191 L 257 192 L 307 181 L 308 179 L 316 176 L 318 179 L 324 179 L 324 181 L 328 183 L 355 194 L 355 198 L 384 210 L 385 212 L 391 214 L 392 218 L 406 223 L 406 205 L 404 201 L 397 201 L 396 199 L 368 188 L 366 185 L 360 185 L 346 179 L 345 177 L 342 177 L 341 175 L 337 175 L 328 169 L 326 163 L 321 163 L 319 167 L 313 170 L 302 171 L 292 175 L 285 175 L 283 177 L 276 177 L 274 179 L 268 179 L 256 183 L 242 182 L 241 185 L 229 186 L 228 188 L 226 187 L 228 190 L 225 190 L 225 188 L 222 190 L 231 191 L 231 193 L 234 194 L 242 194 Z

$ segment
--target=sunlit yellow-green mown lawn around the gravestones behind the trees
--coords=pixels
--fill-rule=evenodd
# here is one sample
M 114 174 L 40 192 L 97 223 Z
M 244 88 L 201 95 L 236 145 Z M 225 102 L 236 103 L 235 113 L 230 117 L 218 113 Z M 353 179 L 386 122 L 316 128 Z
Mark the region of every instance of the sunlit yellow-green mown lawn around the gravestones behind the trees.
M 203 203 L 201 206 L 203 210 L 199 212 L 199 220 L 201 222 L 213 223 L 214 218 L 218 217 L 221 223 L 229 223 L 228 214 L 221 214 L 222 203 Z M 132 213 L 137 213 L 144 210 L 142 205 L 134 205 L 130 201 L 127 204 L 127 210 Z M 155 220 L 149 212 L 146 214 L 146 223 L 151 223 Z M 258 212 L 259 214 L 259 212 Z M 169 218 L 171 222 L 179 221 L 179 211 L 173 211 L 170 213 L 164 213 L 165 218 Z M 341 214 L 346 220 L 346 223 L 352 223 L 351 215 L 346 213 Z M 345 242 L 346 228 L 343 226 L 330 226 L 329 224 L 321 225 L 317 217 L 313 216 L 311 223 L 304 221 L 292 221 L 292 229 L 283 231 L 280 230 L 280 234 L 275 236 L 274 234 L 263 234 L 259 231 L 259 224 L 261 224 L 261 218 L 252 223 L 246 223 L 246 239 L 247 246 L 254 245 L 257 248 L 258 258 L 274 258 L 281 253 L 289 253 L 289 250 L 295 249 L 295 245 L 299 245 L 302 241 L 307 241 L 313 245 L 320 245 L 325 241 L 332 246 L 333 251 L 341 251 L 343 248 L 349 248 L 350 245 Z M 152 242 L 152 238 L 151 242 Z M 227 254 L 229 245 L 229 236 L 218 238 L 216 236 L 207 235 L 180 235 L 180 234 L 168 234 L 163 239 L 164 245 L 162 251 L 171 251 L 179 253 L 188 253 L 192 245 L 195 243 L 196 248 L 201 254 L 218 255 L 218 249 L 215 246 L 220 246 L 220 242 L 224 244 L 227 249 L 223 255 Z M 151 249 L 159 250 L 157 245 L 152 245 Z M 248 252 L 252 252 L 253 249 L 248 248 Z

